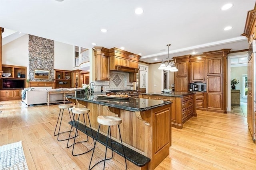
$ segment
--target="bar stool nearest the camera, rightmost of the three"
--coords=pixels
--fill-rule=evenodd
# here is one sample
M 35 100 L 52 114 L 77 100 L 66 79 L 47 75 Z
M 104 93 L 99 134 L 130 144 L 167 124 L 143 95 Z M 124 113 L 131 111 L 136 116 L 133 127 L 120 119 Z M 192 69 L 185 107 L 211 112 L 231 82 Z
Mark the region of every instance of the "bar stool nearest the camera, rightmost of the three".
M 114 116 L 103 116 L 103 115 L 100 115 L 100 116 L 98 116 L 97 121 L 98 121 L 98 123 L 99 123 L 99 128 L 98 128 L 98 133 L 97 133 L 97 136 L 96 136 L 96 141 L 95 141 L 95 144 L 94 144 L 94 148 L 93 148 L 93 151 L 92 151 L 92 157 L 93 157 L 94 150 L 95 150 L 95 147 L 96 147 L 96 142 L 97 142 L 98 134 L 99 134 L 99 131 L 100 131 L 100 125 L 106 125 L 106 126 L 108 126 L 108 134 L 109 134 L 109 132 L 110 132 L 110 143 L 111 143 L 112 156 L 111 156 L 111 158 L 107 158 L 107 159 L 106 159 L 107 148 L 108 148 L 108 136 L 107 136 L 105 158 L 104 158 L 104 160 L 101 160 L 101 161 L 97 162 L 97 163 L 94 165 L 94 166 L 96 166 L 98 163 L 104 161 L 103 169 L 105 169 L 106 160 L 112 159 L 112 157 L 113 157 L 113 147 L 112 147 L 112 143 L 114 143 L 114 144 L 116 144 L 116 145 L 119 145 L 120 147 L 122 146 L 122 149 L 123 149 L 123 152 L 124 152 L 124 146 L 123 146 L 123 142 L 122 142 L 122 138 L 121 138 L 121 134 L 120 134 L 120 128 L 119 128 L 119 124 L 122 123 L 122 119 L 120 119 L 119 117 L 114 117 Z M 120 135 L 120 140 L 121 140 L 121 144 L 122 144 L 122 145 L 120 145 L 119 143 L 116 143 L 116 142 L 112 142 L 110 126 L 113 126 L 113 125 L 118 125 L 118 130 L 119 130 L 119 135 Z M 90 168 L 91 163 L 92 163 L 92 157 L 91 157 L 91 161 L 90 161 L 90 165 L 89 165 L 89 170 L 91 170 L 92 168 L 94 168 L 94 166 L 92 166 L 92 168 Z M 125 161 L 125 169 L 127 169 L 125 154 L 124 154 L 124 161 Z

